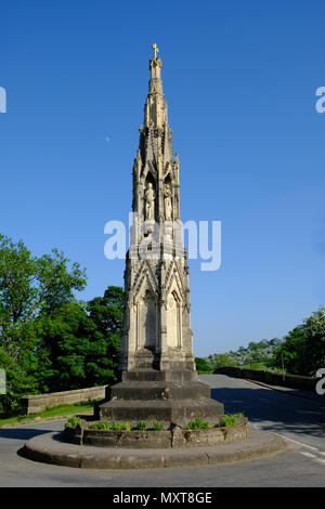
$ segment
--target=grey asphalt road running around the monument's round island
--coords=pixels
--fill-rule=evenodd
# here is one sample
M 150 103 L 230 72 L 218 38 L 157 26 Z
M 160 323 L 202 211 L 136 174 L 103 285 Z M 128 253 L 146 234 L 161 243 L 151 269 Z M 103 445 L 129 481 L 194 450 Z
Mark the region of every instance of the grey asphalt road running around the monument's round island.
M 242 487 L 325 486 L 324 404 L 223 375 L 203 376 L 226 413 L 244 412 L 251 426 L 289 439 L 287 451 L 234 465 L 145 470 L 83 470 L 28 460 L 18 449 L 64 420 L 0 430 L 1 487 Z M 323 406 L 322 406 L 323 405 Z

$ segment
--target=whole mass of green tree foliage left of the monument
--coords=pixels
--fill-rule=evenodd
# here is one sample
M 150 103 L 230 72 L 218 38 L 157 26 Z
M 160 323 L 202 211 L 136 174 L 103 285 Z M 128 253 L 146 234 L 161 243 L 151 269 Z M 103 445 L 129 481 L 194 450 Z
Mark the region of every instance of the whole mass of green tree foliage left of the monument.
M 116 379 L 123 291 L 76 300 L 86 271 L 63 252 L 35 257 L 0 234 L 0 367 L 13 407 L 23 394 L 78 389 Z

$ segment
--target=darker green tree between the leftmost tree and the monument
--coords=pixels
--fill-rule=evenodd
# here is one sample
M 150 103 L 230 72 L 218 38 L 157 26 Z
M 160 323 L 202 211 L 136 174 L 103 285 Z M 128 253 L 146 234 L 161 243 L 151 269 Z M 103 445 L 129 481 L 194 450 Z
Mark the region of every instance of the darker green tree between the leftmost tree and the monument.
M 123 291 L 68 302 L 39 321 L 38 334 L 50 361 L 40 373 L 43 390 L 61 391 L 112 383 L 117 379 Z

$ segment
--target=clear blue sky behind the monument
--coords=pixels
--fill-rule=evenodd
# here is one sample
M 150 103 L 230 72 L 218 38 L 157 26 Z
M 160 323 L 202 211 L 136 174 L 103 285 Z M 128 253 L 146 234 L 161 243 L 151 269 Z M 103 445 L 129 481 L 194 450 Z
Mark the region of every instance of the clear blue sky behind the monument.
M 0 231 L 122 285 L 151 44 L 162 58 L 183 221 L 222 221 L 222 265 L 190 262 L 194 352 L 284 336 L 325 302 L 325 4 L 318 0 L 1 3 Z M 106 141 L 109 138 L 109 142 Z

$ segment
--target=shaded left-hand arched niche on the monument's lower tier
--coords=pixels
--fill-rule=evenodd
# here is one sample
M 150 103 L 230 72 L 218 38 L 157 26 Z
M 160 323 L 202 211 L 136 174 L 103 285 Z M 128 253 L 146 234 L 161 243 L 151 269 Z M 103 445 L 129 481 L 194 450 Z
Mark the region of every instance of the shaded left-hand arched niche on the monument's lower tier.
M 147 290 L 140 310 L 140 330 L 142 331 L 142 348 L 154 352 L 157 345 L 157 303 L 155 296 Z

